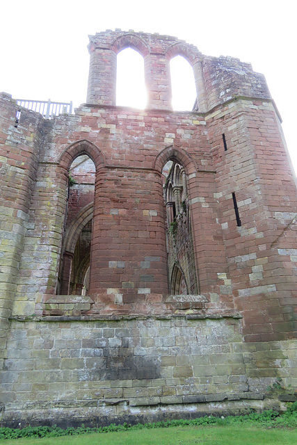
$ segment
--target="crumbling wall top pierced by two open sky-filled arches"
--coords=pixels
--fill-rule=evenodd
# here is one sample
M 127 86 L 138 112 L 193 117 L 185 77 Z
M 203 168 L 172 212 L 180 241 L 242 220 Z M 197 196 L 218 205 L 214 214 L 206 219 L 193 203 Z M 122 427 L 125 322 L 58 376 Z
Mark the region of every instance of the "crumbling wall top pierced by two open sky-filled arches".
M 250 63 L 230 56 L 204 56 L 193 44 L 176 37 L 108 29 L 89 38 L 88 103 L 115 105 L 116 57 L 127 47 L 144 58 L 147 108 L 172 110 L 169 61 L 175 56 L 184 56 L 193 67 L 195 111 L 207 112 L 239 96 L 271 99 L 264 76 L 254 72 Z

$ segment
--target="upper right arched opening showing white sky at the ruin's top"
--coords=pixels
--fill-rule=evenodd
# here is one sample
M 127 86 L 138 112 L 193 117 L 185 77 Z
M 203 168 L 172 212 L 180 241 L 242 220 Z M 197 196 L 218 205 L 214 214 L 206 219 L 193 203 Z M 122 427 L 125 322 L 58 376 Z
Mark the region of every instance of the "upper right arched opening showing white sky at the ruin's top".
M 193 68 L 182 56 L 170 60 L 172 108 L 175 111 L 191 111 L 196 102 Z

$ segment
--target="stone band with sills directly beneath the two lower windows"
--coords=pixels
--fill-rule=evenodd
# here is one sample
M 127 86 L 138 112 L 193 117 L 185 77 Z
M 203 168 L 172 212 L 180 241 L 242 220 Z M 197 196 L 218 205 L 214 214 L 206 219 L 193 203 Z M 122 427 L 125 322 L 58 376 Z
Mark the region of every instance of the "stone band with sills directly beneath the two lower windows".
M 218 309 L 210 302 L 209 294 L 203 295 L 168 295 L 145 294 L 141 301 L 118 304 L 116 294 L 109 292 L 89 296 L 45 295 L 43 302 L 35 306 L 35 316 L 63 317 L 67 320 L 127 320 L 133 318 L 171 319 L 173 316 L 196 318 L 241 318 L 232 307 Z M 138 296 L 139 297 L 139 296 Z M 24 317 L 24 316 L 20 316 Z M 20 319 L 20 318 L 19 318 Z

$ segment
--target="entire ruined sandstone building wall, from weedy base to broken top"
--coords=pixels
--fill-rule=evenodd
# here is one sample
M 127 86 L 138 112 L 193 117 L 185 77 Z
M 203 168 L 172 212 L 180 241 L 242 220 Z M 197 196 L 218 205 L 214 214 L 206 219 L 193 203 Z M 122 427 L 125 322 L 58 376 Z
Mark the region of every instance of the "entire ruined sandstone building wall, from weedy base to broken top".
M 144 57 L 145 110 L 115 106 L 125 47 Z M 74 115 L 44 120 L 0 95 L 1 425 L 294 400 L 296 185 L 264 76 L 164 35 L 104 31 L 89 51 L 87 103 Z M 177 54 L 193 67 L 194 111 L 171 109 Z M 95 173 L 86 161 L 69 186 L 79 155 Z M 195 296 L 168 288 L 161 172 L 170 160 L 186 173 Z M 88 265 L 81 295 L 74 275 Z M 268 396 L 277 378 L 293 395 Z

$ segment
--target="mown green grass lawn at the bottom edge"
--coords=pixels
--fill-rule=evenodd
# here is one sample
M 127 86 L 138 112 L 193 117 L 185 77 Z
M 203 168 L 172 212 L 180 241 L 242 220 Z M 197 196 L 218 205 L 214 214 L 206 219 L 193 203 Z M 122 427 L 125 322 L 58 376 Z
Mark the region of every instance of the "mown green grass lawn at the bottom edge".
M 3 445 L 287 445 L 297 430 L 261 426 L 175 426 L 78 436 L 1 440 Z

